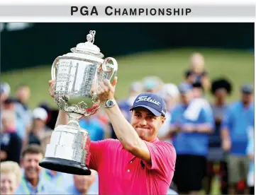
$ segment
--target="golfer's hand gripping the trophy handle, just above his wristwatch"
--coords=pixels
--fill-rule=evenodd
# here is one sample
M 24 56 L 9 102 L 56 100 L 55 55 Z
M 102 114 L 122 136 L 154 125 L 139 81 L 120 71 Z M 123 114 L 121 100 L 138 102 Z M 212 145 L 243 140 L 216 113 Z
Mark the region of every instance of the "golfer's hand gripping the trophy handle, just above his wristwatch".
M 97 96 L 101 102 L 106 102 L 106 100 L 114 99 L 115 88 L 117 83 L 117 77 L 113 79 L 111 84 L 108 79 L 99 82 Z

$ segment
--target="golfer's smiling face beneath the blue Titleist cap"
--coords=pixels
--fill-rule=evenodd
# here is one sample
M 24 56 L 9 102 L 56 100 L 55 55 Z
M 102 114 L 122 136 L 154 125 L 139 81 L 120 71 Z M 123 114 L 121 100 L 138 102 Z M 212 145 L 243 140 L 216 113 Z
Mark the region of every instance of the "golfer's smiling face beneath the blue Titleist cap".
M 164 122 L 164 117 L 156 117 L 144 107 L 138 107 L 133 110 L 130 124 L 140 138 L 145 141 L 154 141 L 157 137 L 158 129 Z

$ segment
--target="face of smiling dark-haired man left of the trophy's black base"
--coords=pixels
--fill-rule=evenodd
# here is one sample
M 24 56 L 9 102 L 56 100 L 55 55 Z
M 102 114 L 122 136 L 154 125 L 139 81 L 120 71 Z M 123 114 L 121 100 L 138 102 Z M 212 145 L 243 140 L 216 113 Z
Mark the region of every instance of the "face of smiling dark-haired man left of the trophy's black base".
M 41 153 L 26 153 L 22 160 L 22 166 L 25 170 L 26 179 L 36 179 L 40 175 L 42 167 L 39 166 L 39 162 L 43 159 Z

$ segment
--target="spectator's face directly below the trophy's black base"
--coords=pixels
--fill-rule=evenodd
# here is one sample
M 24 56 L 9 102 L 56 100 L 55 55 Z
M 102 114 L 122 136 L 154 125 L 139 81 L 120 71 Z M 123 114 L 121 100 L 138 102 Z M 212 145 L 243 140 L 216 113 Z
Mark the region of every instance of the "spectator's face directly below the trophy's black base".
M 74 175 L 74 186 L 80 193 L 86 193 L 94 179 L 95 175 Z

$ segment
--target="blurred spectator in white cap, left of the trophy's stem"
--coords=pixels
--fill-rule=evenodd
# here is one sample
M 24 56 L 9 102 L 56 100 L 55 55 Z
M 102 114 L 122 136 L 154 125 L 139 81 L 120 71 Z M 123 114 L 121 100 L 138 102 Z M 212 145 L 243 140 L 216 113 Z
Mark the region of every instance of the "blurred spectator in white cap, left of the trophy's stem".
M 51 130 L 46 126 L 47 119 L 48 113 L 42 107 L 37 107 L 33 110 L 33 124 L 28 135 L 28 144 L 35 143 L 40 145 L 40 140 L 45 136 L 45 133 Z

